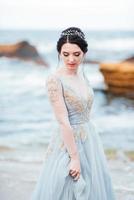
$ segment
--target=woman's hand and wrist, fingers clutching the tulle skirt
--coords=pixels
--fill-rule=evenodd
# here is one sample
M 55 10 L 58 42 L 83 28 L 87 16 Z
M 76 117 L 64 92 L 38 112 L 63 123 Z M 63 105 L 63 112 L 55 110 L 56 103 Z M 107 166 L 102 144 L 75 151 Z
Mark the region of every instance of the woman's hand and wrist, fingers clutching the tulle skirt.
M 69 174 L 74 178 L 74 180 L 79 179 L 79 177 L 80 177 L 79 158 L 71 158 L 70 166 L 69 166 Z

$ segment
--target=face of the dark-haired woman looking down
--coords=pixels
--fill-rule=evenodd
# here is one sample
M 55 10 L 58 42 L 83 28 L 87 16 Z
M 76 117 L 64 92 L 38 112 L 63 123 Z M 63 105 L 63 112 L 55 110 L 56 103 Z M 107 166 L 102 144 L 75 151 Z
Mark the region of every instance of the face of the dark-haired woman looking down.
M 83 61 L 84 53 L 77 44 L 65 43 L 61 48 L 60 57 L 68 69 L 76 70 Z

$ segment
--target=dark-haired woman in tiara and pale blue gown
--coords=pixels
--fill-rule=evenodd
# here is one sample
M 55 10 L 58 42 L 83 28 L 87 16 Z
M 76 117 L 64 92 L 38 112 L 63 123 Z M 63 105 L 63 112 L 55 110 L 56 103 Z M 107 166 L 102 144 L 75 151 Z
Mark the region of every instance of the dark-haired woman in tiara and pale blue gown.
M 61 33 L 57 51 L 63 61 L 46 81 L 58 130 L 46 151 L 33 200 L 114 200 L 100 137 L 90 119 L 93 90 L 79 66 L 87 52 L 84 33 Z

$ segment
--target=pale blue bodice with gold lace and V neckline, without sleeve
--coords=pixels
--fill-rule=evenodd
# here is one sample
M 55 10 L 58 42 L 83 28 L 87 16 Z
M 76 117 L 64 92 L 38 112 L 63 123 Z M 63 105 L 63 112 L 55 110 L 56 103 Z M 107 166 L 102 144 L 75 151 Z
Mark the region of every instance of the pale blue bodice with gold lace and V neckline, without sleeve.
M 91 86 L 87 84 L 89 90 L 87 99 L 85 99 L 82 94 L 76 94 L 75 90 L 63 78 L 61 78 L 61 82 L 70 123 L 77 124 L 89 120 L 94 97 Z

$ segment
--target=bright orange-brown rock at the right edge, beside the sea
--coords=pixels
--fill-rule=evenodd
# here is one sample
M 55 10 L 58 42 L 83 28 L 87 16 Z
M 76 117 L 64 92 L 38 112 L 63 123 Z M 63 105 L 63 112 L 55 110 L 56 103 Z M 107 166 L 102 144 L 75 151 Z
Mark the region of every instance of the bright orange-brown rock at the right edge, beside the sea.
M 134 63 L 101 63 L 100 71 L 110 92 L 134 97 Z

